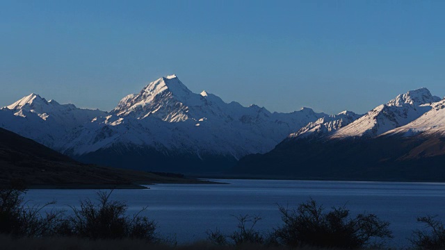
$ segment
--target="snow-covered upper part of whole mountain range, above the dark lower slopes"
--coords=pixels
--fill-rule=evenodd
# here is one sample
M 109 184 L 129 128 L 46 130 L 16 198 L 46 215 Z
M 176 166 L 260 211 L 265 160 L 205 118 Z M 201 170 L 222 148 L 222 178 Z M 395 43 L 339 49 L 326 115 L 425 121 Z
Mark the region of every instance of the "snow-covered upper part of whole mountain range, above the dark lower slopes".
M 0 126 L 88 163 L 127 167 L 154 165 L 154 159 L 161 164 L 171 158 L 193 164 L 215 158 L 219 163 L 266 153 L 286 138 L 373 138 L 419 117 L 432 121 L 439 117 L 432 111 L 443 110 L 439 103 L 439 97 L 421 88 L 365 115 L 350 111 L 326 115 L 310 108 L 270 113 L 257 105 L 225 103 L 207 91 L 193 93 L 171 75 L 127 95 L 109 113 L 30 94 L 0 109 Z

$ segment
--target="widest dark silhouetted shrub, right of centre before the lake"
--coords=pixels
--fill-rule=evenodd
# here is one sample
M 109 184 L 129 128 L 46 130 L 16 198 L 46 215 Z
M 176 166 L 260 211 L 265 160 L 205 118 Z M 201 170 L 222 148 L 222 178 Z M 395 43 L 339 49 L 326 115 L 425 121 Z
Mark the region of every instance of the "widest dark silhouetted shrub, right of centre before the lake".
M 328 213 L 310 199 L 295 210 L 279 207 L 284 225 L 275 229 L 277 241 L 291 247 L 339 247 L 358 249 L 371 244 L 372 239 L 392 238 L 389 222 L 373 214 L 350 217 L 345 208 L 332 208 Z

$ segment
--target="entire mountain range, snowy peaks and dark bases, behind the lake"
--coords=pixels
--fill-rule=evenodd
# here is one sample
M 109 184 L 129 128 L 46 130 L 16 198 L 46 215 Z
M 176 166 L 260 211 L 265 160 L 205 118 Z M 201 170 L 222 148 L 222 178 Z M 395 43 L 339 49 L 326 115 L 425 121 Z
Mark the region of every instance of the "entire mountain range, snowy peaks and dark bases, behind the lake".
M 436 164 L 445 154 L 444 102 L 421 88 L 364 115 L 310 108 L 270 113 L 206 91 L 193 93 L 172 75 L 127 95 L 110 112 L 30 94 L 0 109 L 0 126 L 84 163 L 195 174 L 366 178 L 386 166 Z

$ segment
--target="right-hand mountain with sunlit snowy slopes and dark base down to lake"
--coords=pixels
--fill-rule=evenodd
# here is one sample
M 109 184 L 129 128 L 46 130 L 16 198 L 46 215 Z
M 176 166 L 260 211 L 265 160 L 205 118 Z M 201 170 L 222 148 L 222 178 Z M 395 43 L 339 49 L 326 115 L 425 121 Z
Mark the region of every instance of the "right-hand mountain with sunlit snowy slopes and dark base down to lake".
M 347 126 L 335 127 L 343 119 L 328 117 L 327 122 L 309 124 L 289 135 L 268 153 L 246 156 L 232 172 L 308 179 L 444 181 L 444 103 L 422 88 L 398 95 Z

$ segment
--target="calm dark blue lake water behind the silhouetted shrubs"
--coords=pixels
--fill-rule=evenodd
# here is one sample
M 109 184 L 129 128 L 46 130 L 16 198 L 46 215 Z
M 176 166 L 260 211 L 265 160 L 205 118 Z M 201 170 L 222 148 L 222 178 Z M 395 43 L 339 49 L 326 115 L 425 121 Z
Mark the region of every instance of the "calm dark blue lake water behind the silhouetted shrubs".
M 213 180 L 218 181 L 218 180 Z M 409 244 L 412 230 L 423 228 L 416 217 L 439 215 L 444 219 L 445 183 L 382 183 L 354 181 L 220 180 L 229 184 L 150 185 L 149 190 L 114 190 L 111 197 L 127 201 L 129 213 L 154 219 L 161 235 L 178 242 L 206 238 L 207 230 L 236 230 L 233 215 L 260 215 L 257 229 L 267 232 L 281 224 L 277 204 L 296 208 L 309 198 L 323 207 L 346 206 L 353 214 L 374 213 L 391 222 L 391 246 Z M 97 190 L 29 190 L 26 199 L 69 209 L 81 199 L 95 199 Z

